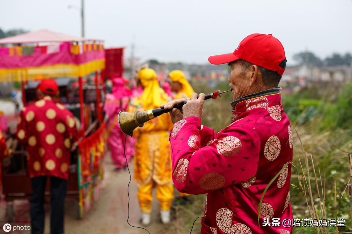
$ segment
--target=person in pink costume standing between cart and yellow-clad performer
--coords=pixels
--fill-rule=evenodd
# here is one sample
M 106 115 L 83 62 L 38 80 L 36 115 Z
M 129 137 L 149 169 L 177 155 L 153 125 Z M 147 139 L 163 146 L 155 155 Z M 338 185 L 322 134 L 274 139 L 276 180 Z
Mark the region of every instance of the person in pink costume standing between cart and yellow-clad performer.
M 113 90 L 112 93 L 107 93 L 106 95 L 104 111 L 105 115 L 108 117 L 107 134 L 111 158 L 114 161 L 116 169 L 123 169 L 127 166 L 126 158 L 127 161 L 130 161 L 131 157 L 134 155 L 136 138 L 127 137 L 126 139 L 126 135 L 120 128 L 118 115 L 120 111 L 126 109 L 128 103 L 130 102 L 132 91 L 125 86 L 125 84 L 128 83 L 128 80 L 122 77 L 115 77 L 112 79 L 112 82 Z

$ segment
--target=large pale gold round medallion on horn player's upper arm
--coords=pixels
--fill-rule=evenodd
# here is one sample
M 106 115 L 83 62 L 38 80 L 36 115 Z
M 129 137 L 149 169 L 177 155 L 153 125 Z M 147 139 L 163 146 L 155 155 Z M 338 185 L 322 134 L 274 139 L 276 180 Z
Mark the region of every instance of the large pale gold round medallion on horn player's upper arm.
M 237 137 L 227 136 L 218 141 L 216 149 L 222 156 L 234 156 L 242 149 L 242 143 Z

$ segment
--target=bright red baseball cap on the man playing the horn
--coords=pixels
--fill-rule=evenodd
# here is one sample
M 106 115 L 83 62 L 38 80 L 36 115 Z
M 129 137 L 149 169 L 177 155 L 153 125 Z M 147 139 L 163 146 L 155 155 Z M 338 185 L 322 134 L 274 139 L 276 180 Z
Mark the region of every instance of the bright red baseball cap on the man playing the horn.
M 211 64 L 224 64 L 237 59 L 275 71 L 279 75 L 285 71 L 279 66 L 286 59 L 284 47 L 272 34 L 251 34 L 240 42 L 233 53 L 210 56 L 208 61 Z

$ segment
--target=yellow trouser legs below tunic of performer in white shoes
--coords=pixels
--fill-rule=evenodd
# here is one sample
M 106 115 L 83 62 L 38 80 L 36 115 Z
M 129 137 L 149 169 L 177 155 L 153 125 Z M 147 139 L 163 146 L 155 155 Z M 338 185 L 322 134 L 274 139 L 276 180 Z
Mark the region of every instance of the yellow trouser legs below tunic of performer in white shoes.
M 174 184 L 160 185 L 150 180 L 147 184 L 140 186 L 137 191 L 139 206 L 143 213 L 151 213 L 151 202 L 153 200 L 152 191 L 154 186 L 156 187 L 156 198 L 160 202 L 160 210 L 171 209 L 172 199 L 174 198 Z

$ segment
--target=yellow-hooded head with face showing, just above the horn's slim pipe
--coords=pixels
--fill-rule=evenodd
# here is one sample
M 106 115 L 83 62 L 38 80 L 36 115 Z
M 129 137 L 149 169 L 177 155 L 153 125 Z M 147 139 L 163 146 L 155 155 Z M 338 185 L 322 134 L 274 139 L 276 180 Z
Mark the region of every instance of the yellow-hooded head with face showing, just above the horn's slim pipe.
M 176 92 L 175 99 L 192 97 L 194 90 L 181 70 L 170 72 L 169 77 L 171 79 L 171 90 Z

